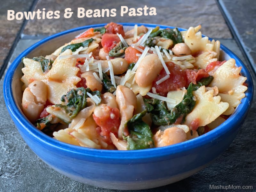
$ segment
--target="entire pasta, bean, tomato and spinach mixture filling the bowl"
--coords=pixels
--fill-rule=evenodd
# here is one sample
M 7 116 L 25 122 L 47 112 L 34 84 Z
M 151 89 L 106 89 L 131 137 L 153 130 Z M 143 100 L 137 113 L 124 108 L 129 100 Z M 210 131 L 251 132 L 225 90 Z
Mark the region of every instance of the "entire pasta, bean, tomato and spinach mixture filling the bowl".
M 163 147 L 209 132 L 247 86 L 200 28 L 108 23 L 51 55 L 23 58 L 22 110 L 42 132 L 89 148 Z

